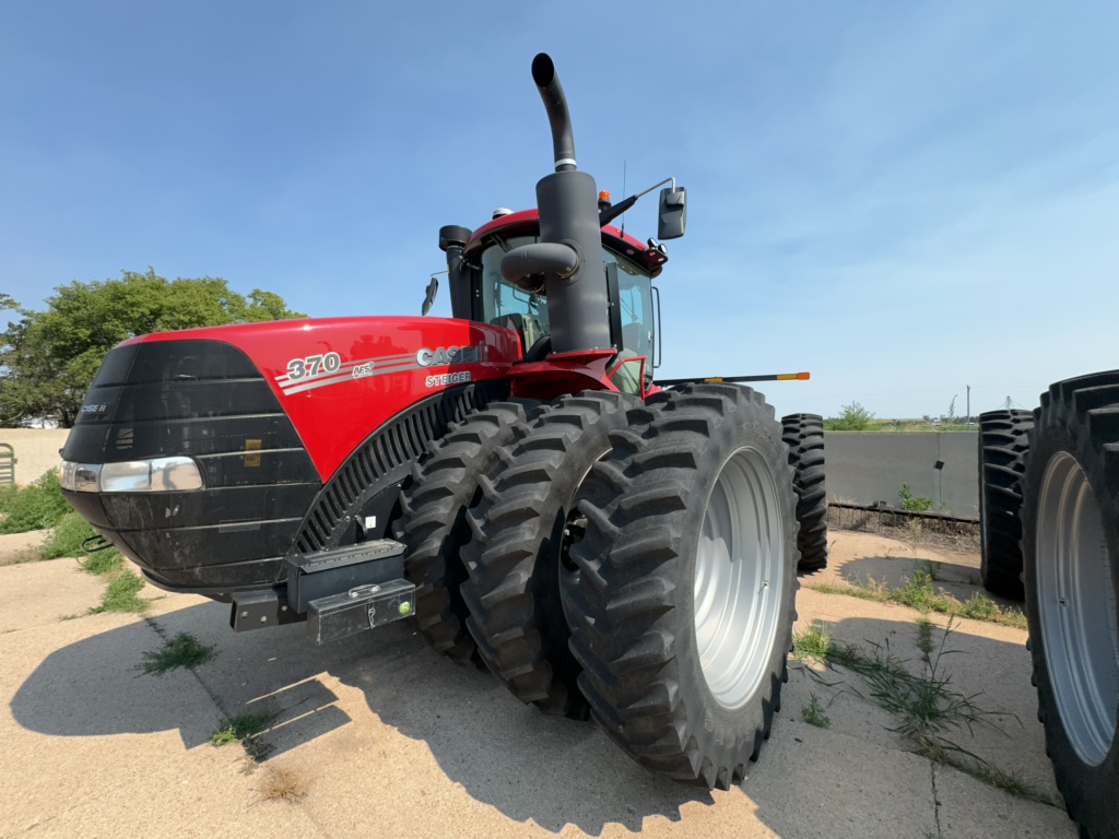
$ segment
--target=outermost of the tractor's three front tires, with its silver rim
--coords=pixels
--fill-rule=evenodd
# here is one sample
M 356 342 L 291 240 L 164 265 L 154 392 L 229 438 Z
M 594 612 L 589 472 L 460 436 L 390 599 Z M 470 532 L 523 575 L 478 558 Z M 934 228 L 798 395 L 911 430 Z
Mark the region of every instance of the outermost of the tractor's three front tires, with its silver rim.
M 732 385 L 657 394 L 629 423 L 580 505 L 567 604 L 579 684 L 638 763 L 730 789 L 788 679 L 799 555 L 781 424 Z

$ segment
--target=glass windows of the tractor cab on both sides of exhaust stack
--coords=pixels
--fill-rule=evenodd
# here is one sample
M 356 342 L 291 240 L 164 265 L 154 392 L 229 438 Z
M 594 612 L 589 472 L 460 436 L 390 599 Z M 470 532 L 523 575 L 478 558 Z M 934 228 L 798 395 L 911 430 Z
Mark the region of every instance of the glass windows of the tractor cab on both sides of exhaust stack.
M 487 323 L 519 332 L 528 355 L 551 333 L 548 301 L 544 289 L 530 293 L 501 276 L 501 257 L 515 247 L 537 242 L 535 236 L 498 238 L 481 255 L 482 318 Z M 652 281 L 636 263 L 602 248 L 602 260 L 618 266 L 618 294 L 621 309 L 622 350 L 627 355 L 652 359 L 653 311 Z

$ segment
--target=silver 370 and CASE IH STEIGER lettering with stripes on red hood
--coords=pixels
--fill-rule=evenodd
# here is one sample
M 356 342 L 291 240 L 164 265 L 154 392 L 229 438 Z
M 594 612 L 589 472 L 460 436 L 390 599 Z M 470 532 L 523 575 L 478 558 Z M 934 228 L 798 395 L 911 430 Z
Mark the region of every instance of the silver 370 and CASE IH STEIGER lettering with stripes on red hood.
M 327 385 L 340 385 L 351 379 L 384 376 L 391 373 L 421 370 L 425 367 L 453 367 L 455 365 L 478 364 L 489 360 L 489 347 L 479 343 L 477 347 L 424 347 L 419 352 L 405 352 L 399 356 L 383 358 L 365 358 L 357 361 L 344 361 L 337 352 L 326 352 L 318 356 L 293 358 L 288 362 L 288 373 L 276 376 L 276 384 L 285 396 L 313 390 Z M 429 376 L 424 384 L 427 387 L 470 381 L 468 371 Z

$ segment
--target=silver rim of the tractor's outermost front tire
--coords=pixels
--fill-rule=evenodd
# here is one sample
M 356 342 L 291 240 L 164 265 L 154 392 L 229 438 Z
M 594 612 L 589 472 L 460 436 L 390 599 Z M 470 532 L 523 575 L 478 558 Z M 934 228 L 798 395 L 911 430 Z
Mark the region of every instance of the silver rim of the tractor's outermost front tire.
M 744 706 L 769 673 L 784 590 L 777 481 L 756 449 L 723 465 L 707 501 L 695 563 L 699 664 L 715 701 Z

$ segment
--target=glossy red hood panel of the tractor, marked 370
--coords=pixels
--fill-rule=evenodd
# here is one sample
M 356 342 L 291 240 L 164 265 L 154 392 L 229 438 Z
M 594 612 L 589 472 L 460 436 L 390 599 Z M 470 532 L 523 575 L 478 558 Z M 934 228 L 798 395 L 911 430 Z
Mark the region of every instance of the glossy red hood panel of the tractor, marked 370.
M 449 318 L 329 318 L 188 329 L 243 350 L 291 417 L 323 481 L 385 421 L 448 387 L 508 376 L 515 332 Z

